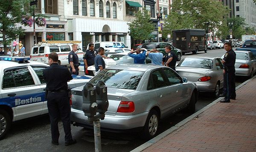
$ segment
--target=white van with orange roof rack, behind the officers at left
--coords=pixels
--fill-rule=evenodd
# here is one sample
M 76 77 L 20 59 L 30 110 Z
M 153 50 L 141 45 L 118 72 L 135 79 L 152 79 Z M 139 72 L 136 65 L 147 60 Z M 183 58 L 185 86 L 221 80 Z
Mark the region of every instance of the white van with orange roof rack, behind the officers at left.
M 73 44 L 80 44 L 81 41 L 45 41 L 32 47 L 30 52 L 30 60 L 48 64 L 49 53 L 56 52 L 61 65 L 68 65 L 68 53 L 72 50 Z M 76 51 L 78 57 L 82 57 L 84 52 Z

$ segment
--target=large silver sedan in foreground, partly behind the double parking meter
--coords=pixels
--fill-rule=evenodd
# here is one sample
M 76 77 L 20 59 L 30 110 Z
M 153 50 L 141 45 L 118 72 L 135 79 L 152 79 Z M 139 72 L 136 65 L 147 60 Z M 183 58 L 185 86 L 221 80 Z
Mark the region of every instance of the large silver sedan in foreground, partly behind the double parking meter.
M 156 65 L 115 65 L 102 70 L 90 82 L 102 80 L 108 87 L 108 111 L 101 128 L 126 132 L 142 130 L 143 138 L 153 138 L 160 118 L 186 108 L 195 111 L 198 90 L 193 82 L 168 67 Z M 71 121 L 74 126 L 92 127 L 81 110 L 82 89 L 72 90 Z M 135 131 L 135 130 L 134 130 Z

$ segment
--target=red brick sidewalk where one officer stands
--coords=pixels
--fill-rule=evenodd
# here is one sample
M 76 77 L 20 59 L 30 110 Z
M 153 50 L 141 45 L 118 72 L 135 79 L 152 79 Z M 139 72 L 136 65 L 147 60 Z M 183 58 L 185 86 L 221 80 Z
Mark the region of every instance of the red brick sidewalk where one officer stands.
M 143 152 L 256 152 L 256 78 Z

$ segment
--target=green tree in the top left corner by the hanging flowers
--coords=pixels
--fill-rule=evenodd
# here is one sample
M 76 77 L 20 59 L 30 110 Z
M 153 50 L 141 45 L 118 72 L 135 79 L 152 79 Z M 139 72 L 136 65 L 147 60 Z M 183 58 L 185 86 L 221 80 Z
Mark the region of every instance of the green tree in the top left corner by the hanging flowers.
M 3 45 L 5 54 L 6 45 L 10 44 L 18 35 L 22 35 L 24 29 L 17 26 L 22 21 L 30 0 L 0 0 L 0 32 L 3 33 Z

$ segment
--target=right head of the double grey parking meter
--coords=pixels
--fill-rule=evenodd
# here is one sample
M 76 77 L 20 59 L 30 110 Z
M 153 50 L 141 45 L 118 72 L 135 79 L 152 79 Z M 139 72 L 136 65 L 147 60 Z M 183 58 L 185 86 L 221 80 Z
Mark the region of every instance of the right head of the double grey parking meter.
M 107 87 L 101 80 L 96 84 L 96 102 L 98 104 L 97 112 L 105 113 L 108 110 Z

